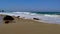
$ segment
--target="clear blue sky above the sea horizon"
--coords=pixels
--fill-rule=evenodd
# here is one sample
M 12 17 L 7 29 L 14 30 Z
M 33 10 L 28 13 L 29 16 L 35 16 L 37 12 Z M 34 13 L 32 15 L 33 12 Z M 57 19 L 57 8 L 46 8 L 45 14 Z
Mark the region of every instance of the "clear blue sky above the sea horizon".
M 0 9 L 60 11 L 60 0 L 0 0 Z

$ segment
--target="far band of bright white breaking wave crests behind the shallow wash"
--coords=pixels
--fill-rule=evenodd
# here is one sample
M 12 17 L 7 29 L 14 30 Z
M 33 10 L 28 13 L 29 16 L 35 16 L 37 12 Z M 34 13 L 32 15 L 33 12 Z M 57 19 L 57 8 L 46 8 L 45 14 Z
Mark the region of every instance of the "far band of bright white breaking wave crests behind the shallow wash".
M 10 13 L 3 13 L 1 12 L 0 14 L 6 14 L 6 15 L 18 15 L 20 16 L 20 14 L 24 14 L 24 15 L 37 15 L 37 16 L 47 16 L 47 17 L 60 17 L 60 15 L 51 15 L 51 14 L 37 14 L 37 13 L 32 13 L 32 12 L 10 12 Z

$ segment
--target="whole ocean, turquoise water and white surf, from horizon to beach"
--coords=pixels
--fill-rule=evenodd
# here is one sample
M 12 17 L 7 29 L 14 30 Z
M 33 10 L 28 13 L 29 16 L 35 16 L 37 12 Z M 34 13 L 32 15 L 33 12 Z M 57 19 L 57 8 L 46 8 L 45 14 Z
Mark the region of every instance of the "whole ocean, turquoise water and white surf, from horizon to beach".
M 26 19 L 39 18 L 42 22 L 60 24 L 60 12 L 0 12 L 10 16 L 20 16 Z

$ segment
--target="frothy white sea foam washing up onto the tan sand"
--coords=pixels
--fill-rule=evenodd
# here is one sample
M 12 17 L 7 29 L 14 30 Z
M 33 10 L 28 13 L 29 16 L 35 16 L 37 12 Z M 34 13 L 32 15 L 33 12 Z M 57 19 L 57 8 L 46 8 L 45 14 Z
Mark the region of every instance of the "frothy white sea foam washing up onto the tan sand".
M 60 17 L 58 17 L 58 15 L 46 15 L 46 14 L 38 15 L 35 13 L 29 13 L 29 12 L 12 12 L 12 13 L 0 13 L 0 14 L 16 16 L 16 17 L 20 16 L 20 18 L 25 17 L 25 19 L 39 18 L 41 19 L 41 20 L 38 20 L 39 22 L 60 24 Z

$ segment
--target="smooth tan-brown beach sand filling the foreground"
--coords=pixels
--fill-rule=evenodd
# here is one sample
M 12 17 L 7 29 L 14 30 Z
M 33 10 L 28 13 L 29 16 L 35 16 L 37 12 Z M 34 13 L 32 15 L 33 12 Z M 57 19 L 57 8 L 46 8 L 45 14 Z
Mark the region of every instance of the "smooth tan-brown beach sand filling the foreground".
M 22 18 L 15 18 L 14 22 L 0 24 L 0 34 L 60 34 L 58 24 L 47 24 Z

